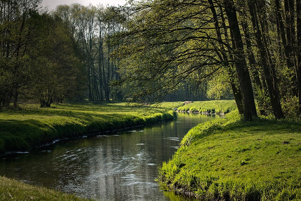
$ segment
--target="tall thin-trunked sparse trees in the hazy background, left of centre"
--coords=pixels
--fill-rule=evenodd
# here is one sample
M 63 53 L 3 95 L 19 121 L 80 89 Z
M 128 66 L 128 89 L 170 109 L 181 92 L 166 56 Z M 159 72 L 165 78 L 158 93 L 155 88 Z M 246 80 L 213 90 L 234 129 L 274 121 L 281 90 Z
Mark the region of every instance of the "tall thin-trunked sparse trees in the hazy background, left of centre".
M 119 43 L 112 35 L 122 30 L 123 18 L 111 8 L 80 4 L 58 6 L 54 12 L 71 29 L 82 50 L 86 66 L 88 100 L 122 99 L 120 90 L 111 90 L 111 82 L 119 80 L 118 60 L 111 54 Z

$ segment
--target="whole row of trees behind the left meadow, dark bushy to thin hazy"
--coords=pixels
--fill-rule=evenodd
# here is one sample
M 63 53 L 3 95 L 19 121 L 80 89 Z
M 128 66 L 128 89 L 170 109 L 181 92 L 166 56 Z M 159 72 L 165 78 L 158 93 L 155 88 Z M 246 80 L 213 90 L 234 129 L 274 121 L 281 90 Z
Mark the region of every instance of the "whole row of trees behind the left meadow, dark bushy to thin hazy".
M 122 100 L 118 60 L 110 54 L 122 31 L 113 9 L 61 5 L 39 0 L 0 1 L 0 109 L 20 104 Z

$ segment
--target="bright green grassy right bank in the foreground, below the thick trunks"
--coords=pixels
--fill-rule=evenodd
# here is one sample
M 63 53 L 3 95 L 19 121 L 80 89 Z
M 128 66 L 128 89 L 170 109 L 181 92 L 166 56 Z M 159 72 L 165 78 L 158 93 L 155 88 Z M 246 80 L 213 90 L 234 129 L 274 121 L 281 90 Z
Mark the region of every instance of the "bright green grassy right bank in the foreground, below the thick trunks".
M 300 123 L 232 112 L 192 128 L 159 180 L 204 200 L 300 200 L 300 154 Z

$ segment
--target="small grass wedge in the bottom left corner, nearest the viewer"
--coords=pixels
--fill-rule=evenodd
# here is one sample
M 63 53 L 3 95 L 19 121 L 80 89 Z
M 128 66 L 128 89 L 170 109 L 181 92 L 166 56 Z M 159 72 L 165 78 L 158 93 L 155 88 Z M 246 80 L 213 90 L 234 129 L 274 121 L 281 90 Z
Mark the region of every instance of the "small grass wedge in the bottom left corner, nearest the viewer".
M 0 177 L 0 200 L 51 200 L 51 201 L 88 201 L 74 195 L 31 186 L 6 177 Z

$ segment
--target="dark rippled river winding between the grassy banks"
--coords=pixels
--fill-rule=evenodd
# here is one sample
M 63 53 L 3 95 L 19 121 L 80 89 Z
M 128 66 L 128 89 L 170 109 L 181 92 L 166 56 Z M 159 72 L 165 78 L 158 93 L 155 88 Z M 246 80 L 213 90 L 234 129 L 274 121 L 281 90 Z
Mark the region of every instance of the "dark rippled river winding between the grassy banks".
M 0 175 L 101 201 L 191 200 L 164 191 L 155 181 L 158 167 L 172 158 L 190 128 L 214 118 L 179 113 L 169 122 L 7 154 Z

